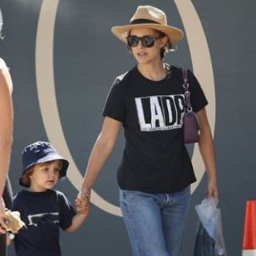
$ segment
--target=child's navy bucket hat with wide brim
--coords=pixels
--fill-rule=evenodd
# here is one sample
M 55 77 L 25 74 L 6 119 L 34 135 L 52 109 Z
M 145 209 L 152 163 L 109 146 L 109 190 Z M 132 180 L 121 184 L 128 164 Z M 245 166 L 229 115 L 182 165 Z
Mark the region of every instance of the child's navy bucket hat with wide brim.
M 65 158 L 62 158 L 49 142 L 34 142 L 26 146 L 22 151 L 22 175 L 26 174 L 26 171 L 37 163 L 54 160 L 62 160 L 62 169 L 59 172 L 59 178 L 66 176 L 66 170 L 70 163 Z M 18 179 L 18 184 L 28 187 L 28 184 L 22 182 L 22 175 Z

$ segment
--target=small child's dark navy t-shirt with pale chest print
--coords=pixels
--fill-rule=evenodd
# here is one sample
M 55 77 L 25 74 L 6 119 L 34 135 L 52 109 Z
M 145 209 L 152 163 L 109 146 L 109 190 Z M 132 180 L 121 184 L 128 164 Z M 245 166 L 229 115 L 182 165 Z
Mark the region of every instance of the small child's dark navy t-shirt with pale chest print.
M 12 210 L 18 210 L 26 227 L 15 234 L 17 256 L 60 256 L 59 228 L 66 230 L 76 214 L 62 192 L 22 190 L 14 197 Z

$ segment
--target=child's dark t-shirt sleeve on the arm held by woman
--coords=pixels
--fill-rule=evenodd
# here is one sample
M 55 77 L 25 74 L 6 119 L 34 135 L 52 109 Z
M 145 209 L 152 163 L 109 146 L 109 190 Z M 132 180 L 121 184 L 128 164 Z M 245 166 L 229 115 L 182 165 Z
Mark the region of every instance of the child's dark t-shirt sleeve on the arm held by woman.
M 76 215 L 76 211 L 71 206 L 70 201 L 64 194 L 58 192 L 58 203 L 60 206 L 60 223 L 62 230 L 66 230 L 72 224 L 72 218 Z

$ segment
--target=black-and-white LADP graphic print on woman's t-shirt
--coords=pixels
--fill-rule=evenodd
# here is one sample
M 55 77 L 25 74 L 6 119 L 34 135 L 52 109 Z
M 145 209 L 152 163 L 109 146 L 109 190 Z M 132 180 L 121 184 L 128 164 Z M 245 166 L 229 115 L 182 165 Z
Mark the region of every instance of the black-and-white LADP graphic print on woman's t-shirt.
M 183 94 L 135 98 L 141 131 L 182 128 L 186 102 Z

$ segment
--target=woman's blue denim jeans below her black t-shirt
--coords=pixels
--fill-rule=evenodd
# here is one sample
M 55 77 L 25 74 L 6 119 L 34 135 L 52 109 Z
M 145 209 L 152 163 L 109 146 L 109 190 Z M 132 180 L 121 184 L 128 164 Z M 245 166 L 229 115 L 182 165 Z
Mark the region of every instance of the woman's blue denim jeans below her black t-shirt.
M 190 186 L 172 194 L 120 190 L 134 256 L 180 256 L 190 208 Z

